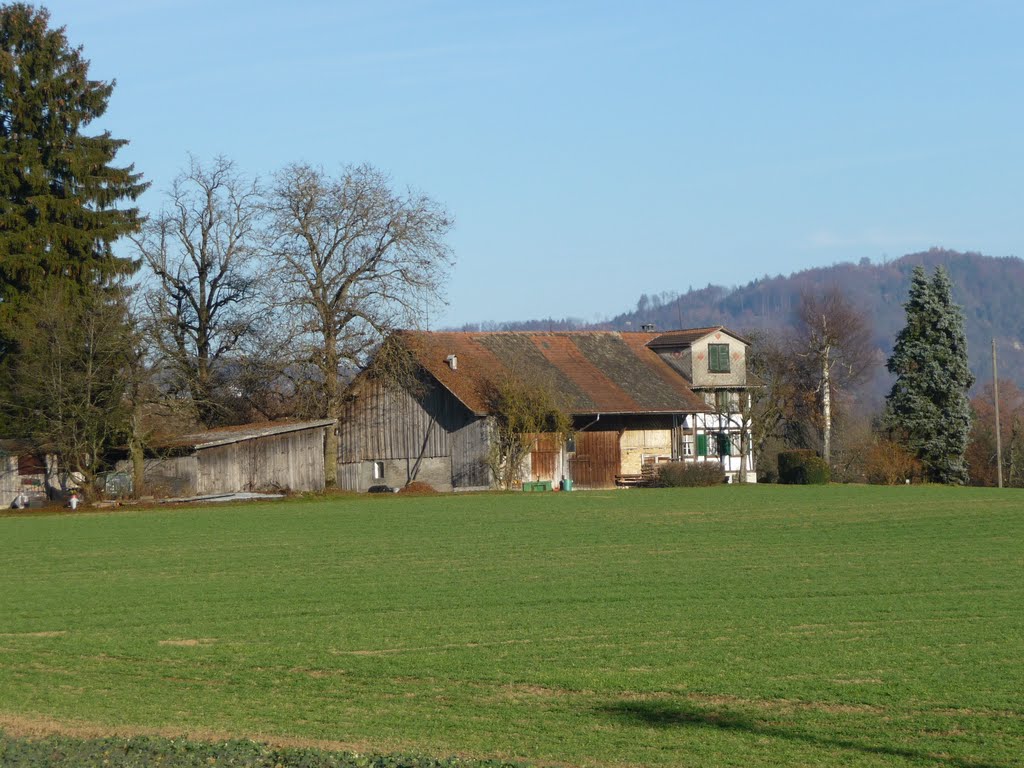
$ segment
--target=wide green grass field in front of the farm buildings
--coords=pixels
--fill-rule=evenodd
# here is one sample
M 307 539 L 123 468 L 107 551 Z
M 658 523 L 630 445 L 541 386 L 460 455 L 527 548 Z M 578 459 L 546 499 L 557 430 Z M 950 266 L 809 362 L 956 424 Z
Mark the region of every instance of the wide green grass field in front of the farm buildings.
M 561 765 L 1022 765 L 1024 495 L 4 517 L 0 728 L 44 721 Z

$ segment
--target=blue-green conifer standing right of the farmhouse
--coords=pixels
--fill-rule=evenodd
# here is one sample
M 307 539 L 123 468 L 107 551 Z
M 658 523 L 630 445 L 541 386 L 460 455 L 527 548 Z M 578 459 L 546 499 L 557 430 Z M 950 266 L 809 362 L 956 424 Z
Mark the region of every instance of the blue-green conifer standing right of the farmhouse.
M 964 455 L 971 436 L 964 315 L 952 300 L 946 270 L 928 280 L 914 267 L 906 304 L 906 327 L 896 337 L 887 368 L 896 383 L 886 403 L 886 424 L 922 462 L 930 480 L 964 483 Z

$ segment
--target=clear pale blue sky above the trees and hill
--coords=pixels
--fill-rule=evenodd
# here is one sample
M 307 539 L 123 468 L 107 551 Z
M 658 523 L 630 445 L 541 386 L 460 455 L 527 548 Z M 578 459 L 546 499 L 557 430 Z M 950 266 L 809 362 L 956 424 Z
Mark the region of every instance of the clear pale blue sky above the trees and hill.
M 1024 3 L 54 0 L 153 182 L 371 163 L 455 215 L 431 326 L 941 246 L 1021 255 Z

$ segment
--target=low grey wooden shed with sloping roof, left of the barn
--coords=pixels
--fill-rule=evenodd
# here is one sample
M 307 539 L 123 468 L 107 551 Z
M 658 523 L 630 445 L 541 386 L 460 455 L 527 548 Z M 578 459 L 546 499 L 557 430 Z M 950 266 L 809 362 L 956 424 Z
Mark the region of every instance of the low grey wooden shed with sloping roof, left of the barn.
M 184 435 L 145 460 L 150 493 L 165 497 L 247 490 L 323 490 L 324 441 L 333 419 L 268 422 Z M 131 471 L 127 462 L 118 469 Z

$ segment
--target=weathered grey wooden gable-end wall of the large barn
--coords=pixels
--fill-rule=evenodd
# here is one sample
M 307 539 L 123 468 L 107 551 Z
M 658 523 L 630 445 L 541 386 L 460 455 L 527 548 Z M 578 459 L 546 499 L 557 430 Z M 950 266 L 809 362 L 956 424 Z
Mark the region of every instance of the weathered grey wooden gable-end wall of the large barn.
M 338 428 L 338 481 L 362 490 L 362 463 L 451 458 L 453 487 L 490 484 L 484 464 L 486 419 L 446 389 L 427 386 L 419 397 L 379 381 L 366 381 L 342 412 Z

